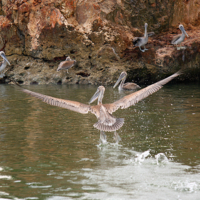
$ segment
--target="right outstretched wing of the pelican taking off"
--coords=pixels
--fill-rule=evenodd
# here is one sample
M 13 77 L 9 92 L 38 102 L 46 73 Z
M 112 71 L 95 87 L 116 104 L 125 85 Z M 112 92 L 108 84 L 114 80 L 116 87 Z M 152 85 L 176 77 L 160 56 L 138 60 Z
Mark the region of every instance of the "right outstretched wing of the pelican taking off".
M 153 94 L 154 92 L 157 92 L 159 89 L 162 88 L 163 85 L 174 79 L 175 77 L 179 76 L 181 74 L 181 70 L 176 72 L 175 74 L 158 81 L 144 89 L 141 89 L 137 92 L 134 92 L 132 94 L 129 94 L 123 98 L 121 98 L 118 101 L 115 101 L 112 104 L 106 104 L 106 108 L 109 113 L 113 113 L 119 108 L 125 109 L 128 108 L 129 106 L 135 105 L 137 102 L 141 101 L 142 99 L 148 97 L 149 95 Z

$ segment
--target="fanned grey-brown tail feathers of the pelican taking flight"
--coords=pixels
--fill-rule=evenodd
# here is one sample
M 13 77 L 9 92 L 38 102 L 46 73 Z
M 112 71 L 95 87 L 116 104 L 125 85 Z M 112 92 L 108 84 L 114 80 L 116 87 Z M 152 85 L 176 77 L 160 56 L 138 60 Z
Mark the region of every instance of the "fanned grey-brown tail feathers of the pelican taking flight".
M 113 132 L 120 129 L 123 126 L 123 124 L 124 124 L 124 118 L 116 118 L 115 123 L 112 125 L 106 125 L 98 121 L 93 126 L 100 131 Z

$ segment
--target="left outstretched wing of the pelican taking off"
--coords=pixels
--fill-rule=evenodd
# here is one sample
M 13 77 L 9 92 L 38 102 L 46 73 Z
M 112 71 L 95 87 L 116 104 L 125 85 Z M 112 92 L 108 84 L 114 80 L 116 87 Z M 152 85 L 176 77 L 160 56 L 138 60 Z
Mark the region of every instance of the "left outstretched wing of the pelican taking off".
M 40 94 L 37 92 L 32 92 L 30 90 L 26 90 L 22 88 L 22 91 L 34 96 L 38 99 L 41 99 L 43 102 L 50 104 L 52 106 L 58 106 L 61 108 L 66 108 L 78 113 L 82 113 L 82 114 L 87 114 L 90 111 L 90 105 L 86 105 L 86 104 L 82 104 L 79 103 L 77 101 L 70 101 L 70 100 L 65 100 L 65 99 L 59 99 L 59 98 L 55 98 L 55 97 L 51 97 L 51 96 L 47 96 L 44 94 Z

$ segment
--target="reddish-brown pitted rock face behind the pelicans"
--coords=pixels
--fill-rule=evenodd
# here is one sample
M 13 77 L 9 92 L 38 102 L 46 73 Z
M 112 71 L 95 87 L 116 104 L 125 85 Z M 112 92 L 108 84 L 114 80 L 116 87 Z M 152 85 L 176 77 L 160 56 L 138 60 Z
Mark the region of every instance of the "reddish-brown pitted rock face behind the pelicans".
M 144 23 L 155 35 L 142 53 L 132 39 Z M 182 23 L 190 36 L 178 51 L 170 45 Z M 182 79 L 199 79 L 199 0 L 2 0 L 0 49 L 11 66 L 3 81 L 20 84 L 151 83 L 187 67 Z M 56 72 L 67 56 L 77 64 Z M 191 73 L 193 72 L 193 73 Z M 193 76 L 195 74 L 195 76 Z

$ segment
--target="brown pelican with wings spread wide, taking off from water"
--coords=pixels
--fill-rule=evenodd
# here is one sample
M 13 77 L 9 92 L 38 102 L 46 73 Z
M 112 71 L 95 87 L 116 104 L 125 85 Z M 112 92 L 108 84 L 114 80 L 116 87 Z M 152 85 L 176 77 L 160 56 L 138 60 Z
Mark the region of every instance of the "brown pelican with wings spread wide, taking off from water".
M 159 89 L 162 88 L 163 85 L 165 85 L 166 83 L 168 83 L 175 77 L 179 76 L 180 74 L 181 74 L 181 71 L 178 71 L 175 74 L 161 81 L 158 81 L 137 92 L 124 96 L 118 101 L 115 101 L 114 103 L 110 103 L 110 104 L 102 103 L 104 92 L 105 92 L 105 88 L 103 86 L 99 86 L 97 88 L 97 91 L 95 92 L 95 94 L 92 96 L 92 98 L 89 101 L 89 104 L 91 104 L 92 102 L 98 99 L 97 105 L 87 105 L 87 104 L 79 103 L 77 101 L 59 99 L 59 98 L 47 96 L 44 94 L 40 94 L 37 92 L 33 92 L 30 90 L 24 89 L 22 87 L 20 88 L 22 89 L 23 92 L 29 95 L 32 95 L 52 106 L 62 107 L 62 108 L 69 109 L 69 110 L 82 113 L 82 114 L 87 114 L 88 112 L 91 112 L 97 117 L 98 122 L 96 122 L 93 126 L 96 129 L 100 130 L 101 142 L 106 143 L 106 135 L 104 133 L 106 131 L 106 132 L 114 132 L 114 139 L 118 143 L 121 140 L 121 138 L 116 131 L 123 126 L 124 119 L 116 118 L 112 115 L 112 113 L 120 108 L 125 109 L 125 108 L 135 105 L 137 102 L 141 101 L 142 99 L 148 97 L 154 92 L 157 92 Z

